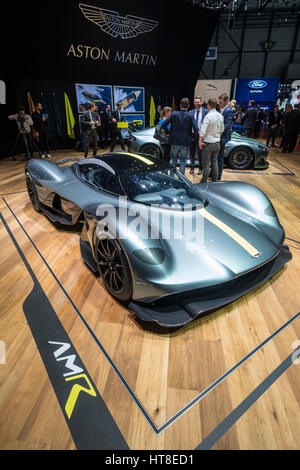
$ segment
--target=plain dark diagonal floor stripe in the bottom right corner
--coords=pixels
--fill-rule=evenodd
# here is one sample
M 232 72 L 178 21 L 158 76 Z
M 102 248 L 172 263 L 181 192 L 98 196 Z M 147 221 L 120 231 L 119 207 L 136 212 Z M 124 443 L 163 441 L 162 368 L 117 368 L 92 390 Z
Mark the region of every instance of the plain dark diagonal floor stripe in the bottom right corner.
M 299 351 L 300 352 L 300 351 Z M 293 353 L 294 354 L 294 353 Z M 195 450 L 208 450 L 218 442 L 221 437 L 249 410 L 249 408 L 279 379 L 279 377 L 293 364 L 292 356 L 288 356 L 239 406 L 237 406 L 220 423 Z M 295 366 L 296 367 L 296 366 Z

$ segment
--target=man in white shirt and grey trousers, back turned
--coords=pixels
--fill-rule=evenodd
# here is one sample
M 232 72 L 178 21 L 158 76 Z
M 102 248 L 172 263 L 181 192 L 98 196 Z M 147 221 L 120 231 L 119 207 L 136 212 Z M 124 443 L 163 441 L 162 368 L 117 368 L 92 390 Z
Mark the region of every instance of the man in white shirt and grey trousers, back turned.
M 224 118 L 216 110 L 217 100 L 208 100 L 208 113 L 204 118 L 200 129 L 199 147 L 202 150 L 202 180 L 207 183 L 210 168 L 212 169 L 212 181 L 218 181 L 218 154 L 220 151 L 221 136 L 224 132 Z

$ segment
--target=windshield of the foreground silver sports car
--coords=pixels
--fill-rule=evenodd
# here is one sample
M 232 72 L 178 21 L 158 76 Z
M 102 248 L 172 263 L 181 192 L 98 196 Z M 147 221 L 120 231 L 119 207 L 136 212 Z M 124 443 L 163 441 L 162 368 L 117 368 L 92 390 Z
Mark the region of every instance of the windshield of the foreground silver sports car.
M 120 182 L 131 201 L 142 204 L 164 205 L 170 209 L 183 210 L 203 206 L 205 198 L 193 185 L 173 168 L 156 171 L 124 172 Z

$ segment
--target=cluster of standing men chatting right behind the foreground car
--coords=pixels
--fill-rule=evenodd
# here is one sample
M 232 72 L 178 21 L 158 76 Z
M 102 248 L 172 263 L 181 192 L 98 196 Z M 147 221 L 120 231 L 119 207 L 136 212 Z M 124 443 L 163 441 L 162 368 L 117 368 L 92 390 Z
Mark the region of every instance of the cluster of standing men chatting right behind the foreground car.
M 188 98 L 181 100 L 179 111 L 163 108 L 158 126 L 164 134 L 169 134 L 168 141 L 161 145 L 163 159 L 166 162 L 171 159 L 173 166 L 176 166 L 179 158 L 180 172 L 184 174 L 189 155 L 190 174 L 193 174 L 197 152 L 197 174 L 202 174 L 202 182 L 207 181 L 210 170 L 212 180 L 219 181 L 224 167 L 225 145 L 231 138 L 232 104 L 223 93 L 218 101 L 214 98 L 208 100 L 206 107 L 202 99 L 196 96 L 192 110 L 189 110 Z

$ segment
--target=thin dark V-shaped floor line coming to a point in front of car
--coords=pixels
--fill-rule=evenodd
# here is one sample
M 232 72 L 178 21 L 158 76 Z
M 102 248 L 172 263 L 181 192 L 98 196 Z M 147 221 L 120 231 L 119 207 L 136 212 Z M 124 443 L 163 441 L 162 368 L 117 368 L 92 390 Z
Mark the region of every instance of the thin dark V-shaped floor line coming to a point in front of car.
M 11 214 L 13 215 L 13 217 L 16 219 L 16 221 L 18 222 L 19 226 L 21 227 L 21 229 L 23 230 L 23 232 L 25 233 L 25 235 L 27 236 L 27 238 L 29 239 L 29 241 L 31 242 L 31 244 L 33 245 L 33 247 L 35 248 L 35 250 L 38 252 L 39 256 L 42 258 L 42 260 L 44 261 L 44 263 L 46 264 L 47 268 L 49 269 L 50 273 L 52 274 L 52 276 L 55 278 L 56 282 L 59 284 L 59 286 L 61 287 L 62 291 L 64 292 L 64 294 L 66 295 L 66 297 L 68 298 L 69 302 L 72 304 L 72 306 L 74 307 L 76 313 L 79 315 L 80 319 L 82 320 L 82 322 L 84 323 L 84 325 L 86 326 L 86 328 L 88 329 L 89 333 L 92 335 L 93 339 L 96 341 L 96 343 L 98 344 L 99 348 L 101 349 L 101 351 L 104 353 L 105 357 L 107 358 L 107 360 L 109 361 L 110 365 L 113 367 L 114 371 L 117 373 L 119 379 L 121 380 L 121 382 L 123 383 L 123 385 L 125 386 L 125 388 L 127 389 L 128 393 L 131 395 L 131 397 L 133 398 L 133 400 L 135 401 L 136 405 L 139 407 L 140 411 L 143 413 L 144 417 L 146 418 L 146 420 L 148 421 L 149 425 L 152 427 L 153 431 L 159 435 L 161 434 L 162 432 L 164 432 L 169 426 L 171 426 L 175 421 L 177 421 L 184 413 L 186 413 L 191 407 L 193 407 L 195 404 L 197 404 L 200 400 L 202 400 L 202 398 L 204 398 L 208 393 L 210 393 L 212 390 L 214 390 L 220 383 L 222 383 L 224 380 L 226 380 L 226 378 L 231 375 L 236 369 L 238 369 L 242 364 L 244 364 L 250 357 L 252 357 L 257 351 L 259 351 L 261 348 L 263 348 L 269 341 L 271 341 L 275 336 L 277 336 L 283 329 L 285 329 L 287 326 L 289 326 L 294 320 L 296 320 L 299 316 L 300 316 L 300 312 L 298 312 L 296 315 L 294 315 L 291 319 L 289 319 L 286 323 L 284 323 L 280 328 L 278 328 L 278 330 L 274 331 L 268 338 L 266 338 L 261 344 L 259 344 L 256 348 L 254 348 L 249 354 L 247 354 L 243 359 L 241 359 L 237 364 L 235 364 L 231 369 L 229 369 L 228 371 L 226 371 L 223 375 L 221 375 L 217 380 L 215 380 L 211 385 L 209 385 L 205 390 L 203 390 L 199 395 L 197 395 L 193 400 L 191 400 L 188 404 L 186 404 L 181 410 L 179 410 L 178 412 L 176 412 L 170 419 L 168 419 L 163 425 L 161 425 L 160 427 L 157 427 L 154 423 L 154 421 L 152 420 L 152 418 L 150 417 L 150 415 L 148 414 L 147 410 L 144 408 L 144 406 L 141 404 L 141 402 L 139 401 L 139 399 L 135 396 L 133 390 L 130 388 L 129 384 L 126 382 L 125 378 L 123 377 L 123 375 L 121 374 L 121 372 L 119 371 L 119 369 L 117 368 L 117 366 L 114 364 L 113 360 L 110 358 L 110 356 L 108 355 L 108 353 L 105 351 L 104 347 L 102 346 L 101 342 L 99 341 L 99 339 L 96 337 L 96 335 L 94 334 L 93 330 L 90 328 L 90 326 L 88 325 L 88 323 L 86 322 L 86 320 L 84 319 L 83 315 L 81 314 L 80 310 L 76 307 L 75 303 L 73 302 L 73 300 L 71 299 L 71 297 L 69 296 L 69 294 L 67 293 L 67 291 L 65 290 L 65 288 L 63 287 L 63 285 L 61 284 L 61 282 L 59 281 L 59 279 L 56 277 L 55 273 L 52 271 L 51 267 L 49 266 L 49 264 L 47 263 L 47 261 L 45 260 L 45 258 L 43 257 L 43 255 L 41 254 L 41 252 L 39 251 L 39 249 L 37 248 L 37 246 L 35 245 L 35 243 L 33 242 L 33 240 L 30 238 L 29 234 L 26 232 L 26 230 L 24 229 L 24 227 L 22 226 L 21 222 L 19 221 L 19 219 L 17 218 L 17 216 L 14 214 L 13 210 L 11 209 L 11 207 L 9 206 L 9 204 L 7 203 L 7 201 L 5 200 L 5 198 L 3 197 L 2 198 L 3 201 L 5 202 L 7 208 L 9 209 L 9 211 L 11 212 Z

